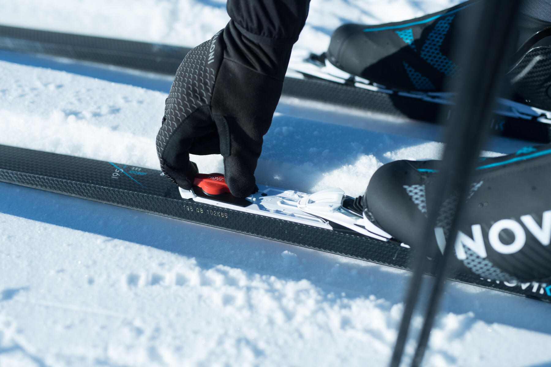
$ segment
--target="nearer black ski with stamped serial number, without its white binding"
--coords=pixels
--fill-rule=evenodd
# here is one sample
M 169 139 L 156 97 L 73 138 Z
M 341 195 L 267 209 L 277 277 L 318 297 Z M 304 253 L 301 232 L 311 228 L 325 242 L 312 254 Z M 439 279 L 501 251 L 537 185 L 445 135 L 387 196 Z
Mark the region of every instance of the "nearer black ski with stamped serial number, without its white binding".
M 182 199 L 154 169 L 0 145 L 0 181 L 105 202 L 184 221 L 407 269 L 413 250 L 349 231 L 324 229 Z M 433 274 L 431 261 L 427 273 Z M 467 272 L 452 280 L 551 302 L 542 283 L 488 281 Z

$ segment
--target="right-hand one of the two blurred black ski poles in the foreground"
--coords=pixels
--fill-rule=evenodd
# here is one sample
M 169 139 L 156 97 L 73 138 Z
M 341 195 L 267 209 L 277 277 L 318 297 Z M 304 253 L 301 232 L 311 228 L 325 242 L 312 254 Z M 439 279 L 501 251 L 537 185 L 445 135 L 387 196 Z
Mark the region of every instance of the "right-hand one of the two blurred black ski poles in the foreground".
M 452 133 L 454 130 L 462 130 L 466 133 L 473 132 L 476 134 L 474 136 L 460 136 L 462 138 L 460 140 L 463 140 L 462 143 L 468 143 L 470 140 L 472 146 L 476 149 L 468 150 L 467 145 L 463 145 L 455 147 L 455 149 L 459 149 L 458 151 L 450 152 L 450 154 L 458 156 L 456 159 L 457 165 L 468 167 L 465 170 L 467 171 L 466 178 L 470 178 L 473 174 L 476 158 L 487 136 L 488 128 L 485 127 L 484 122 L 489 120 L 498 90 L 504 83 L 505 61 L 509 59 L 506 55 L 507 51 L 511 49 L 512 39 L 514 38 L 512 30 L 515 29 L 514 24 L 519 5 L 520 1 L 518 0 L 487 1 L 482 9 L 481 21 L 478 22 L 477 36 L 472 44 L 472 51 L 469 52 L 474 58 L 466 70 L 464 84 L 458 96 L 456 120 L 450 126 Z M 492 18 L 494 19 L 493 22 L 485 21 Z M 496 35 L 498 36 L 496 37 Z M 463 124 L 464 128 L 460 124 Z M 449 147 L 451 148 L 451 146 Z M 446 147 L 446 152 L 448 152 L 448 149 Z M 469 151 L 471 154 L 461 154 L 462 151 Z M 473 156 L 474 153 L 476 153 L 476 156 Z M 453 218 L 450 233 L 447 236 L 444 254 L 436 268 L 436 280 L 431 289 L 423 327 L 419 335 L 417 349 L 415 349 L 412 361 L 413 367 L 419 366 L 423 360 L 430 331 L 433 328 L 442 293 L 444 293 L 445 281 L 450 271 L 449 263 L 454 253 L 455 238 L 463 219 L 469 182 L 469 179 L 464 179 L 463 187 L 456 188 L 457 190 L 461 189 L 463 195 L 457 201 L 456 214 Z

